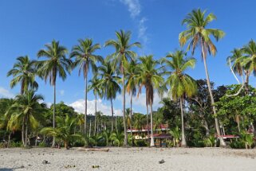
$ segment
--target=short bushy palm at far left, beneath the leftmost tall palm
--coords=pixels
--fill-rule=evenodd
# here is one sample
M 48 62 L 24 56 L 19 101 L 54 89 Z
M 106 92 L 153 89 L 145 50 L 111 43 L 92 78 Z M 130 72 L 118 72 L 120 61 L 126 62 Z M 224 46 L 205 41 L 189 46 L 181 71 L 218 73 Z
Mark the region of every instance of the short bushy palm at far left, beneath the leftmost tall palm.
M 17 95 L 15 103 L 12 105 L 12 110 L 16 115 L 12 115 L 10 118 L 10 125 L 25 122 L 25 142 L 24 146 L 27 146 L 28 142 L 28 131 L 29 128 L 37 128 L 41 118 L 41 111 L 46 105 L 45 103 L 39 103 L 44 98 L 41 95 L 36 95 L 34 90 L 26 91 L 24 95 Z

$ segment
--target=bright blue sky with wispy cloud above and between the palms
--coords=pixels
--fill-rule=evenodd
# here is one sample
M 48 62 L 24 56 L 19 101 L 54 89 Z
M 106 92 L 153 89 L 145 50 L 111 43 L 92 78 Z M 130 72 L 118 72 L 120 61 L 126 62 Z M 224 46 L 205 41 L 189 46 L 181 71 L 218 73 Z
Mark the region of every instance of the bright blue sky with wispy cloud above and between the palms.
M 10 89 L 11 77 L 6 72 L 12 68 L 18 56 L 28 55 L 37 59 L 37 51 L 53 39 L 60 41 L 70 51 L 79 38 L 90 37 L 95 43 L 115 38 L 115 31 L 132 31 L 132 41 L 140 41 L 140 55 L 153 54 L 156 59 L 167 52 L 179 49 L 178 35 L 186 29 L 181 21 L 193 9 L 201 8 L 214 13 L 217 21 L 212 28 L 223 29 L 226 36 L 216 42 L 218 53 L 208 56 L 211 80 L 216 85 L 235 84 L 234 77 L 226 65 L 230 51 L 256 40 L 256 2 L 231 0 L 2 0 L 0 2 L 0 97 L 18 94 L 20 87 Z M 107 56 L 112 48 L 100 49 L 97 54 Z M 190 53 L 189 53 L 190 54 Z M 197 64 L 190 71 L 195 79 L 204 79 L 205 72 L 199 53 L 195 53 Z M 45 103 L 53 102 L 53 88 L 37 80 L 38 92 L 44 95 Z M 253 76 L 251 82 L 256 84 Z M 57 80 L 57 102 L 64 101 L 78 111 L 83 109 L 84 80 L 74 70 L 65 82 Z M 94 111 L 93 94 L 89 92 L 89 113 Z M 156 95 L 154 109 L 159 107 Z M 115 113 L 120 114 L 120 95 L 115 101 Z M 110 114 L 107 101 L 101 100 L 99 108 Z M 144 94 L 136 99 L 134 111 L 145 111 Z

